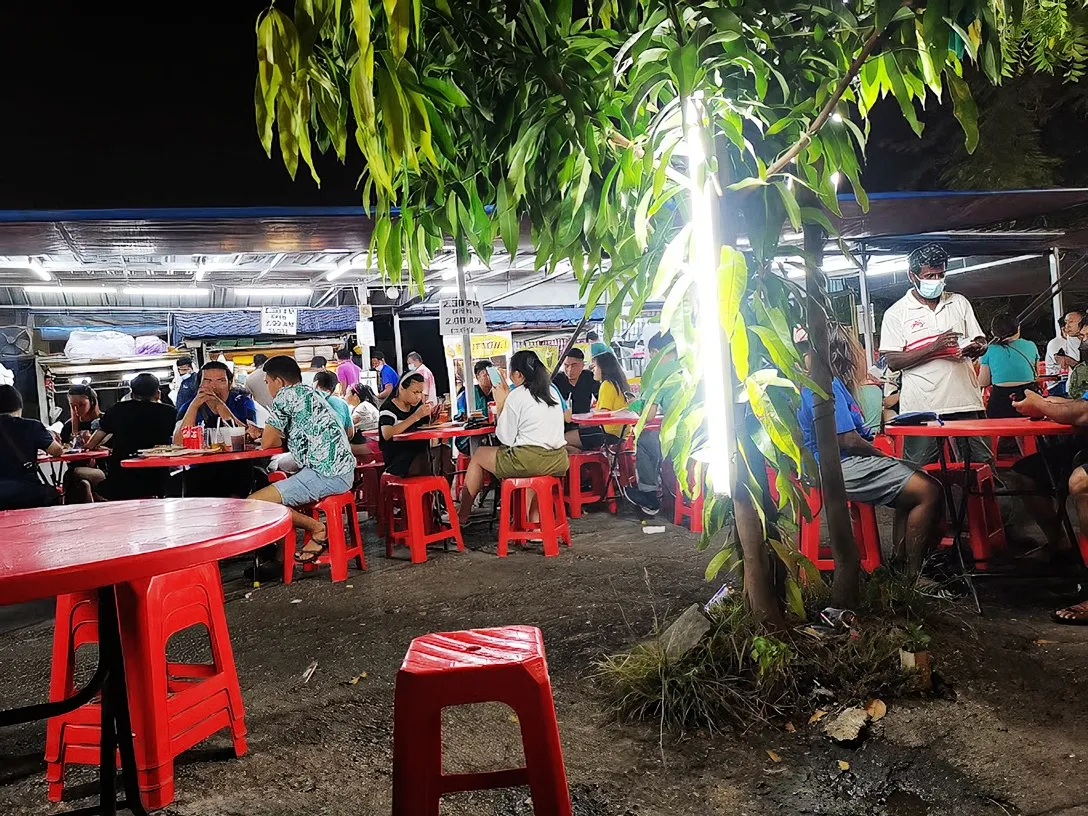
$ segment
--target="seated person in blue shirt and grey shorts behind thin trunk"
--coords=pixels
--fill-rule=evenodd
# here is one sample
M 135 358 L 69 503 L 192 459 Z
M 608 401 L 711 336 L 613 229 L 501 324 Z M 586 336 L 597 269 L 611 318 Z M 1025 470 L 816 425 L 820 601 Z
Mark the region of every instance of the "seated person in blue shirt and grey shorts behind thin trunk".
M 832 337 L 832 343 L 834 338 Z M 805 361 L 812 360 L 807 343 L 799 344 L 805 350 Z M 831 355 L 836 359 L 837 355 Z M 842 356 L 838 356 L 842 359 Z M 839 435 L 839 455 L 842 460 L 842 479 L 846 498 L 851 502 L 883 505 L 895 508 L 894 530 L 906 530 L 906 567 L 908 574 L 922 570 L 926 553 L 937 545 L 938 522 L 941 519 L 942 494 L 940 485 L 918 466 L 911 465 L 873 447 L 873 434 L 865 424 L 862 409 L 838 376 L 832 381 L 834 395 L 834 430 Z M 815 395 L 801 390 L 801 408 L 798 420 L 804 446 L 816 450 Z M 895 542 L 895 555 L 902 543 Z

